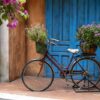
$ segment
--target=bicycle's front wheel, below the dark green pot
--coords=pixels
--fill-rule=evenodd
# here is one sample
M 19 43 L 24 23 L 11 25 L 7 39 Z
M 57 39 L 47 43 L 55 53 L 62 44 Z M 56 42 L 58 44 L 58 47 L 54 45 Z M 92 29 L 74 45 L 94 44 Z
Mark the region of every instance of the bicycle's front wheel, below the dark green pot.
M 22 82 L 31 91 L 44 91 L 54 80 L 52 67 L 43 60 L 29 61 L 22 71 Z

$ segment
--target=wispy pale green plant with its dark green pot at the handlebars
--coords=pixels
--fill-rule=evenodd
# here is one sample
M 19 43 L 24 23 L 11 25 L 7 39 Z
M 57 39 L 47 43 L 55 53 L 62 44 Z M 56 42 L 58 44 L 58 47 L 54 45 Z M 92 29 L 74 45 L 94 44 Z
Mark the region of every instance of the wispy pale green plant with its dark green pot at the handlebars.
M 44 54 L 47 50 L 47 32 L 42 24 L 36 24 L 30 28 L 26 28 L 27 36 L 36 43 L 36 51 Z

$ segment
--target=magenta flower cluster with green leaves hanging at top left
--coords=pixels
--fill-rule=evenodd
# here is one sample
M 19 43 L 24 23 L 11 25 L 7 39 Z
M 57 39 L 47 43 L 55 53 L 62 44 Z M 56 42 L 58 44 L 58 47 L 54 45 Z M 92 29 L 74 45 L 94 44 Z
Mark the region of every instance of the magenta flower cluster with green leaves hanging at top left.
M 28 19 L 27 10 L 24 9 L 23 4 L 26 0 L 0 0 L 0 25 L 3 20 L 10 19 L 8 23 L 9 28 L 15 28 L 18 24 L 18 15 L 23 19 Z

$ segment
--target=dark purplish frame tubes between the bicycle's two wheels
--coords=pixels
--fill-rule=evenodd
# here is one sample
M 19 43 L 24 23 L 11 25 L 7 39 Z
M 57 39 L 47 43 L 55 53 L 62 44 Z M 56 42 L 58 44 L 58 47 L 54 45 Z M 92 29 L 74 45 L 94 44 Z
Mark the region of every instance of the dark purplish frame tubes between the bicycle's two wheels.
M 75 58 L 74 55 L 75 55 L 75 54 L 72 53 L 72 56 L 71 56 L 71 58 L 70 58 L 70 61 L 69 61 L 68 66 L 66 67 L 66 70 L 69 69 L 69 67 L 71 66 L 73 60 L 74 60 L 75 62 L 77 61 L 77 59 Z M 52 55 L 50 55 L 50 54 L 48 53 L 48 51 L 46 51 L 46 53 L 45 53 L 45 55 L 44 55 L 44 57 L 43 57 L 42 59 L 45 60 L 46 58 L 47 58 L 52 64 L 54 64 L 54 66 L 55 66 L 60 72 L 63 72 L 63 71 L 64 71 L 64 70 L 62 69 L 62 65 L 59 64 L 59 62 L 57 62 L 57 60 L 56 60 Z

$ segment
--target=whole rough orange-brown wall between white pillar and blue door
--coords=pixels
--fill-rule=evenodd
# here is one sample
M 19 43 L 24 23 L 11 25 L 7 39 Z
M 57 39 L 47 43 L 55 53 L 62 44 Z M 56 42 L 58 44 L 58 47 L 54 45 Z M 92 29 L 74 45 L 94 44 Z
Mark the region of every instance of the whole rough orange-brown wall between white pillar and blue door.
M 36 23 L 45 23 L 45 0 L 28 0 L 27 9 L 30 18 L 28 26 Z M 24 32 L 25 23 L 20 22 L 17 29 L 9 34 L 9 79 L 15 80 L 21 75 L 25 61 L 28 61 L 38 54 L 35 50 L 35 43 L 29 41 Z

